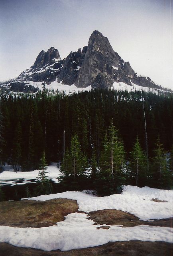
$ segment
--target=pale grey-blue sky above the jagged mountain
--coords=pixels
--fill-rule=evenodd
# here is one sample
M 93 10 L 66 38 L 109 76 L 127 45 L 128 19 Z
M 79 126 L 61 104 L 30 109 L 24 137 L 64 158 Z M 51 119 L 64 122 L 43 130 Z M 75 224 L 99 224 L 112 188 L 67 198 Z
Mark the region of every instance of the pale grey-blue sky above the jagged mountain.
M 173 0 L 0 0 L 0 81 L 51 46 L 65 58 L 94 30 L 135 72 L 173 89 Z

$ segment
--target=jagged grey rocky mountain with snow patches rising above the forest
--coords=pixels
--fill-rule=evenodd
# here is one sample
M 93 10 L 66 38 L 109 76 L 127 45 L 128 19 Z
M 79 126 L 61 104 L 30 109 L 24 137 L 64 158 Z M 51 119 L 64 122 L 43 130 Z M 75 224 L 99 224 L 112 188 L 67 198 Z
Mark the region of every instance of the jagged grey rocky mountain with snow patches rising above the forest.
M 61 60 L 54 47 L 41 51 L 33 66 L 23 71 L 15 80 L 0 85 L 1 90 L 37 92 L 46 88 L 59 90 L 90 90 L 91 88 L 120 88 L 133 90 L 165 90 L 149 77 L 138 76 L 129 62 L 114 52 L 108 38 L 95 30 L 88 46 L 70 52 Z M 72 86 L 73 85 L 73 86 Z M 85 89 L 86 88 L 86 89 Z

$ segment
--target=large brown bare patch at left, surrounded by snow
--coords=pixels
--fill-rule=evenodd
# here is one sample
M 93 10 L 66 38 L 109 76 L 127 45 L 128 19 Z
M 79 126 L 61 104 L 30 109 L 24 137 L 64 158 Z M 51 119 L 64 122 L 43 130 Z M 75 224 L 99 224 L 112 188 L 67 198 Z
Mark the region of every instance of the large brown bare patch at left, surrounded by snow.
M 76 200 L 64 198 L 0 202 L 0 225 L 21 228 L 53 226 L 63 221 L 64 216 L 77 212 L 78 208 Z

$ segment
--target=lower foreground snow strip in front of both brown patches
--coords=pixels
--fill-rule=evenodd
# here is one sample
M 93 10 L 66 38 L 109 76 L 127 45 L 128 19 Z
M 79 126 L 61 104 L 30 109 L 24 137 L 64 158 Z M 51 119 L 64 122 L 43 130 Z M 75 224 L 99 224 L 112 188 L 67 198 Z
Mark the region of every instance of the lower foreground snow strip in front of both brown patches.
M 104 225 L 93 225 L 86 214 L 69 214 L 65 221 L 57 222 L 57 226 L 45 228 L 12 228 L 0 227 L 0 240 L 14 246 L 31 247 L 45 251 L 71 250 L 106 244 L 116 241 L 165 241 L 171 242 L 171 228 L 150 227 L 141 225 L 129 228 L 110 226 L 96 229 Z

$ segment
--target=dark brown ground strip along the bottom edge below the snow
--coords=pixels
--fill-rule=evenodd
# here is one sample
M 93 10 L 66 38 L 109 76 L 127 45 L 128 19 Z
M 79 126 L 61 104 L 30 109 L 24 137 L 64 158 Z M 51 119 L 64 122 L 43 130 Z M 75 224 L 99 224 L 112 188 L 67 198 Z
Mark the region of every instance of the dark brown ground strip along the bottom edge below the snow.
M 172 256 L 173 244 L 165 242 L 109 242 L 101 246 L 61 252 L 44 252 L 33 248 L 15 247 L 0 243 L 1 256 Z

